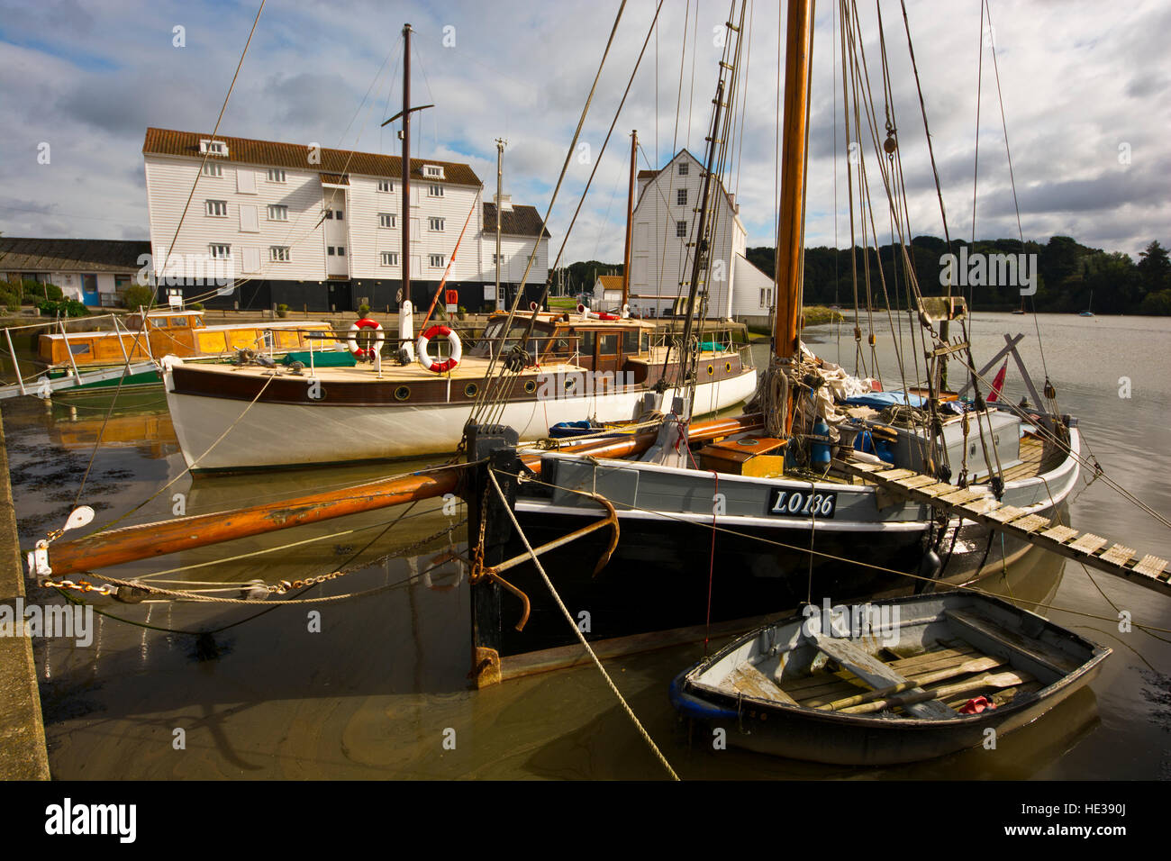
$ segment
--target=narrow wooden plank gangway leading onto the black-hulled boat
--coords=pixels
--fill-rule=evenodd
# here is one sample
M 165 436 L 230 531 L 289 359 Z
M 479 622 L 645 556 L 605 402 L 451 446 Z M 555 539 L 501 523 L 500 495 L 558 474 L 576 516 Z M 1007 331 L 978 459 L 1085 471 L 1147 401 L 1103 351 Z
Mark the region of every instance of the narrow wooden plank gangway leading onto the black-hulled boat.
M 1040 450 L 1040 446 L 1036 447 Z M 1022 452 L 1023 449 L 1025 446 Z M 1083 533 L 1070 526 L 1052 526 L 1048 518 L 1028 514 L 1021 508 L 998 503 L 992 497 L 991 488 L 984 485 L 961 488 L 946 481 L 933 480 L 927 476 L 908 476 L 906 470 L 891 469 L 885 464 L 835 460 L 834 465 L 863 481 L 908 497 L 916 503 L 930 505 L 950 517 L 973 520 L 1050 553 L 1076 559 L 1107 574 L 1171 595 L 1171 572 L 1167 570 L 1167 560 L 1150 553 L 1139 558 L 1134 548 L 1115 544 L 1101 535 Z

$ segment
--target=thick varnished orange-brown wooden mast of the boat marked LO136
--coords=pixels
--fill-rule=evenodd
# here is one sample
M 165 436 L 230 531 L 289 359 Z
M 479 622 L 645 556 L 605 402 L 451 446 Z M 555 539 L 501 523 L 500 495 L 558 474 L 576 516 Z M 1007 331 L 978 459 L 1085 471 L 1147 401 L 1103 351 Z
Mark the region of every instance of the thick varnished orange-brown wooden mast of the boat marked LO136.
M 785 52 L 785 119 L 781 210 L 776 241 L 776 317 L 773 349 L 796 357 L 801 317 L 801 250 L 804 245 L 806 131 L 809 121 L 809 55 L 813 1 L 789 0 Z

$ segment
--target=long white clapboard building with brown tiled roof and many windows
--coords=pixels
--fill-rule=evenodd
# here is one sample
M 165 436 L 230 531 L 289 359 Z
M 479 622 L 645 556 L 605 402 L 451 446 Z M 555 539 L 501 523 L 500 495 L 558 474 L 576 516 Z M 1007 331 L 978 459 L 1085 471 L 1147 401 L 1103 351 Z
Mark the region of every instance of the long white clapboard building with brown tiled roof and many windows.
M 495 305 L 497 207 L 484 200 L 470 165 L 412 158 L 404 225 L 397 156 L 150 128 L 143 159 L 160 299 L 182 293 L 211 307 L 395 309 L 406 227 L 417 306 L 430 305 L 461 231 L 446 288 L 470 310 Z M 540 216 L 506 201 L 501 227 L 502 282 L 515 283 L 516 258 L 526 241 L 529 250 L 537 241 L 527 283 L 539 289 L 549 235 Z M 217 291 L 225 273 L 230 283 Z

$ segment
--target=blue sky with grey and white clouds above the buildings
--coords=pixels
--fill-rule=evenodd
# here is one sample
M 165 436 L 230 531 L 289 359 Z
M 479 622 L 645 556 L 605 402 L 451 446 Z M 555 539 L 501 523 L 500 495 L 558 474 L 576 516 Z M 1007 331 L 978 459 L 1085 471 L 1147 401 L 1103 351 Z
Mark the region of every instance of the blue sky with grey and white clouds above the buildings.
M 778 4 L 749 2 L 744 132 L 727 182 L 752 246 L 773 244 L 779 28 Z M 413 101 L 436 104 L 415 123 L 415 151 L 471 164 L 491 193 L 493 139 L 505 137 L 506 193 L 545 212 L 618 6 L 269 0 L 220 131 L 397 152 L 391 127 L 379 124 L 400 107 L 399 34 L 410 21 Z M 882 111 L 875 7 L 858 6 Z M 643 146 L 639 168 L 660 165 L 683 146 L 701 155 L 721 50 L 713 33 L 728 7 L 728 0 L 664 0 L 564 262 L 621 260 L 631 129 Z M 219 0 L 0 0 L 0 232 L 148 238 L 144 131 L 211 130 L 255 11 Z M 912 231 L 941 235 L 902 13 L 889 0 L 882 11 Z M 583 135 L 591 157 L 653 13 L 653 0 L 626 4 Z M 1171 6 L 991 0 L 991 14 L 1025 238 L 1062 233 L 1132 255 L 1151 239 L 1171 244 Z M 909 0 L 908 16 L 949 226 L 953 237 L 971 238 L 978 64 L 981 41 L 989 41 L 981 40 L 980 0 Z M 836 232 L 845 246 L 834 19 L 835 5 L 819 4 L 807 242 L 833 245 Z M 987 47 L 982 56 L 975 235 L 1015 237 Z M 49 163 L 40 164 L 44 143 Z M 590 168 L 571 160 L 550 218 L 554 254 Z M 878 230 L 889 237 L 889 223 Z

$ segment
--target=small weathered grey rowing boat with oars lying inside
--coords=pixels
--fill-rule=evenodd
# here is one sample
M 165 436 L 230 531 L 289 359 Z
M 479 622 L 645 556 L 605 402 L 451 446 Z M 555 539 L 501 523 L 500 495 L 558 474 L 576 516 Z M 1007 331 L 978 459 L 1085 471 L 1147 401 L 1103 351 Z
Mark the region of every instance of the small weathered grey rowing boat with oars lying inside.
M 1110 649 L 967 592 L 806 607 L 671 684 L 679 713 L 739 747 L 891 765 L 987 745 L 1096 675 Z

